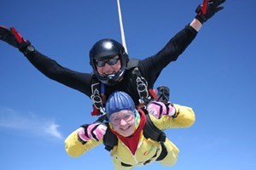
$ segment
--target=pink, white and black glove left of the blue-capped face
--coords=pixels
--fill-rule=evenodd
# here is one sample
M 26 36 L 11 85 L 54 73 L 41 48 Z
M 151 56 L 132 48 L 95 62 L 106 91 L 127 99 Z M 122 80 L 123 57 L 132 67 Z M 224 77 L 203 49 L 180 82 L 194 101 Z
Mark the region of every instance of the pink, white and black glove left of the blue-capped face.
M 99 141 L 106 133 L 107 126 L 102 122 L 85 124 L 79 128 L 79 138 L 87 142 L 90 139 Z

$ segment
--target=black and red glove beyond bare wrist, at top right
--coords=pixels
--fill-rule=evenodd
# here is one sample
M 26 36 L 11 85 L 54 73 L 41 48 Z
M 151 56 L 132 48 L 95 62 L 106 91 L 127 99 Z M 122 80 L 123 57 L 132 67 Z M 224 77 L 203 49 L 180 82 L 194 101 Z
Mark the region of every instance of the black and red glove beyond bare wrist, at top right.
M 195 12 L 197 13 L 195 18 L 199 20 L 201 24 L 203 24 L 215 13 L 224 8 L 223 6 L 219 5 L 225 1 L 226 0 L 204 0 L 204 2 L 195 9 Z

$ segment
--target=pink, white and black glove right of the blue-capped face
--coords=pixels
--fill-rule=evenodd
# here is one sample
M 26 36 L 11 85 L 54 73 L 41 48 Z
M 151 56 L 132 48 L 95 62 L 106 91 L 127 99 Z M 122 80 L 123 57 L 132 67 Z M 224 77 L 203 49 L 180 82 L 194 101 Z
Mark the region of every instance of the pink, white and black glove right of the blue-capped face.
M 147 105 L 147 111 L 149 114 L 153 115 L 155 118 L 160 118 L 163 115 L 174 116 L 175 108 L 172 107 L 170 103 L 164 104 L 160 101 L 151 101 Z

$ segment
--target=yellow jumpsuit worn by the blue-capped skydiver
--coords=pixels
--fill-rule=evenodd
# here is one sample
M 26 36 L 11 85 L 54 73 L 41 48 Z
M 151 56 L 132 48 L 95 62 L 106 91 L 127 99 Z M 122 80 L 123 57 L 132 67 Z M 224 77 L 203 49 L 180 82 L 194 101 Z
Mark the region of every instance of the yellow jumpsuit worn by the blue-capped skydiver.
M 156 119 L 150 115 L 151 121 L 155 127 L 161 130 L 173 127 L 190 127 L 195 122 L 194 111 L 186 106 L 175 105 L 177 117 L 172 118 L 170 116 L 162 116 L 160 119 Z M 86 144 L 82 144 L 78 139 L 78 129 L 71 133 L 65 140 L 65 147 L 69 156 L 81 156 L 86 151 L 96 147 L 98 144 L 102 144 L 103 140 L 96 141 L 90 139 Z M 177 161 L 177 155 L 179 150 L 176 145 L 166 138 L 164 143 L 167 149 L 167 155 L 161 161 L 158 161 L 166 166 L 172 166 Z M 132 155 L 131 150 L 118 139 L 118 145 L 113 153 L 114 169 L 117 170 L 131 170 L 133 167 L 144 165 L 147 162 L 155 161 L 160 156 L 162 146 L 156 141 L 146 139 L 141 133 L 139 143 L 135 155 Z

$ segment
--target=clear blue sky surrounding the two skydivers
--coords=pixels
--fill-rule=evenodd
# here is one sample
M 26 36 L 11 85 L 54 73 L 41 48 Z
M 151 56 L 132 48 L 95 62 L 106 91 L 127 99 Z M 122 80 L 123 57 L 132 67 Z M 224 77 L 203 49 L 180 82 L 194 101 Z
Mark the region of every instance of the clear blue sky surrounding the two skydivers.
M 195 17 L 201 0 L 121 0 L 131 57 L 157 53 Z M 256 169 L 256 3 L 228 0 L 189 48 L 162 71 L 155 87 L 171 88 L 173 103 L 195 111 L 193 127 L 166 130 L 180 149 L 174 167 L 137 169 Z M 90 72 L 88 53 L 104 37 L 121 41 L 115 0 L 1 0 L 0 25 L 15 26 L 41 53 Z M 99 146 L 73 158 L 64 139 L 96 117 L 88 97 L 37 71 L 0 42 L 0 169 L 112 169 Z

